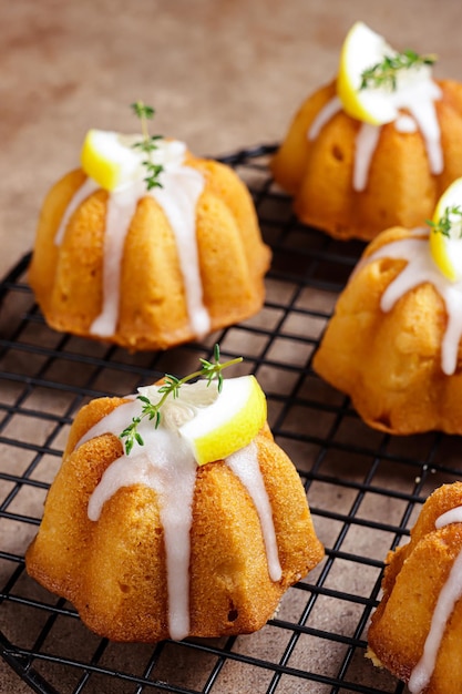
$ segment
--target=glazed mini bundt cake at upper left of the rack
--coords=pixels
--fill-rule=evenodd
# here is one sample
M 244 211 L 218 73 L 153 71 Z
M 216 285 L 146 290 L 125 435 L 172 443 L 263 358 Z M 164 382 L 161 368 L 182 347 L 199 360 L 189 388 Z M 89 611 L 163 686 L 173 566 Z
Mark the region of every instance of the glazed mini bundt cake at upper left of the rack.
M 111 146 L 111 136 L 130 160 L 119 185 L 104 172 L 99 183 L 76 170 L 44 201 L 29 282 L 47 323 L 142 350 L 201 338 L 257 313 L 270 253 L 235 172 L 161 139 L 147 190 L 145 153 L 120 144 L 127 136 L 90 131 L 82 162 L 91 174 L 101 162 L 99 152 L 88 154 L 88 142 L 105 137 Z

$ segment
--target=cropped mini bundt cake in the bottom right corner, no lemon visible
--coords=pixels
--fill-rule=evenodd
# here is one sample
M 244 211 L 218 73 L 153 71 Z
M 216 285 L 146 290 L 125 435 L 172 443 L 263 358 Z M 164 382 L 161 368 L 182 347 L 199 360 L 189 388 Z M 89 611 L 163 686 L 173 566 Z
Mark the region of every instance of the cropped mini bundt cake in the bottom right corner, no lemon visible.
M 412 694 L 462 691 L 462 483 L 423 504 L 411 540 L 387 558 L 368 655 Z

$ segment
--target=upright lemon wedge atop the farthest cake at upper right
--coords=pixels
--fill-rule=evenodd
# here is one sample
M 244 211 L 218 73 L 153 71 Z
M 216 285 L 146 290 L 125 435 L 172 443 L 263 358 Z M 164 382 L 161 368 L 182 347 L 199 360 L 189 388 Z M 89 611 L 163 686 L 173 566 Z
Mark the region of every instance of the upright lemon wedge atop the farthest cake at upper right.
M 337 78 L 338 96 L 343 110 L 351 118 L 372 125 L 390 123 L 399 114 L 400 88 L 409 90 L 429 79 L 430 69 L 420 64 L 397 74 L 397 89 L 388 85 L 360 89 L 362 73 L 366 70 L 380 65 L 386 58 L 396 55 L 397 51 L 384 38 L 363 22 L 356 22 L 351 27 L 340 52 Z

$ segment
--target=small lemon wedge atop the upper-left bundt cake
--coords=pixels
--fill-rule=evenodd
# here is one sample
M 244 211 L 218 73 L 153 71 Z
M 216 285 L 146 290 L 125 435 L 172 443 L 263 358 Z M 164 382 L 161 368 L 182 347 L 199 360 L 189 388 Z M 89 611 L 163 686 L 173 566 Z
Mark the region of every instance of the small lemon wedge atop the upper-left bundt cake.
M 114 191 L 138 176 L 140 153 L 133 149 L 140 135 L 89 130 L 81 151 L 81 164 L 88 176 L 105 191 Z

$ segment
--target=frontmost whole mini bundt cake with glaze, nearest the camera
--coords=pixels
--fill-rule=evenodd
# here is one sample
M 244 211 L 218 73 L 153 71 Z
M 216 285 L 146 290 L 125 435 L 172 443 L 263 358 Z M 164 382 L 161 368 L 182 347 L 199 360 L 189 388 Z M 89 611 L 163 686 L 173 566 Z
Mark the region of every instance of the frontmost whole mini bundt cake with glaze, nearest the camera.
M 266 423 L 254 436 L 244 417 L 228 437 L 234 452 L 196 462 L 188 418 L 198 409 L 208 421 L 217 402 L 226 415 L 243 379 L 254 377 L 226 379 L 212 405 L 204 379 L 182 385 L 175 399 L 170 390 L 157 427 L 142 407 L 165 396 L 162 386 L 140 389 L 142 399 L 93 400 L 76 416 L 27 570 L 100 635 L 155 642 L 253 632 L 324 557 L 299 476 Z M 130 421 L 137 431 L 124 450 Z M 244 446 L 243 432 L 251 437 Z

